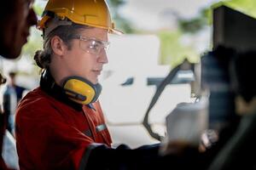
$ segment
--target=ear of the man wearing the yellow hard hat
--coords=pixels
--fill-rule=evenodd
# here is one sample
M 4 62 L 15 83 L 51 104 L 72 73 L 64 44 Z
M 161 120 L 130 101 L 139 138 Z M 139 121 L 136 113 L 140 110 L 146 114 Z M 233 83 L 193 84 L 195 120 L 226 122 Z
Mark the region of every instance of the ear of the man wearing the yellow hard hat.
M 61 37 L 55 36 L 50 40 L 53 52 L 57 55 L 63 55 L 67 51 L 67 45 L 62 41 Z

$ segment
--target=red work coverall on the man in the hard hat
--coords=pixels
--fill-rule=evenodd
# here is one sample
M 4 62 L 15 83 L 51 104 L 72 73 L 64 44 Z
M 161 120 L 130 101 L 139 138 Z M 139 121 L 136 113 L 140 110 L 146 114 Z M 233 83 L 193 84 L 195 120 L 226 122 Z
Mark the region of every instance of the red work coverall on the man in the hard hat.
M 93 143 L 112 143 L 99 102 L 75 107 L 36 88 L 16 115 L 20 170 L 79 169 Z

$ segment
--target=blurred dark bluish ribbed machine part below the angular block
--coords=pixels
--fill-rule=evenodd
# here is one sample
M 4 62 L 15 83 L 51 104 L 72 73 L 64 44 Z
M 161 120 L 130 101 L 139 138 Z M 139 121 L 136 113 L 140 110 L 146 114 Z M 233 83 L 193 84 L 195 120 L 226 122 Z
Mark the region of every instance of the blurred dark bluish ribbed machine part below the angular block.
M 209 127 L 221 130 L 234 117 L 234 91 L 230 82 L 230 62 L 236 57 L 232 48 L 219 46 L 201 58 L 201 88 L 210 92 Z

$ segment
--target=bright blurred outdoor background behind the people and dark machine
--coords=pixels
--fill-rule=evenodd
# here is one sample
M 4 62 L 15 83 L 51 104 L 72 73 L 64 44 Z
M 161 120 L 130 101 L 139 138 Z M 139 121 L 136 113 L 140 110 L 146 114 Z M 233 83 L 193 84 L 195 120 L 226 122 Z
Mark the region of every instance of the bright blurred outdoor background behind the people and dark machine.
M 38 19 L 46 2 L 34 3 Z M 212 49 L 212 8 L 225 4 L 256 17 L 254 0 L 108 0 L 108 4 L 116 27 L 125 34 L 109 35 L 109 63 L 101 76 L 102 109 L 113 143 L 131 147 L 157 142 L 142 122 L 156 88 L 169 71 L 183 59 L 198 63 L 201 55 Z M 0 58 L 3 75 L 15 71 L 16 83 L 26 92 L 38 86 L 40 70 L 33 55 L 42 44 L 41 32 L 33 27 L 22 58 Z M 148 117 L 154 131 L 163 136 L 166 116 L 178 103 L 193 100 L 190 82 L 195 75 L 186 71 L 175 78 Z M 1 96 L 5 88 L 0 88 Z

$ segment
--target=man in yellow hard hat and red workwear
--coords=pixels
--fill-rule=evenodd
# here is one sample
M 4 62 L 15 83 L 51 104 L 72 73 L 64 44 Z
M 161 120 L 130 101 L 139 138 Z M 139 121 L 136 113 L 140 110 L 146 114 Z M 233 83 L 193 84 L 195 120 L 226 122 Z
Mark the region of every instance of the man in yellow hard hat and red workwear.
M 158 155 L 158 144 L 111 148 L 98 101 L 108 33 L 119 32 L 107 3 L 49 0 L 38 28 L 44 37 L 44 50 L 34 57 L 43 69 L 40 87 L 21 99 L 16 112 L 20 170 L 161 169 L 164 162 L 170 164 Z

